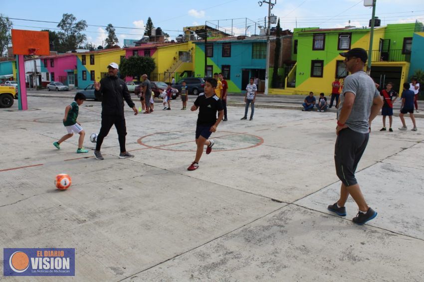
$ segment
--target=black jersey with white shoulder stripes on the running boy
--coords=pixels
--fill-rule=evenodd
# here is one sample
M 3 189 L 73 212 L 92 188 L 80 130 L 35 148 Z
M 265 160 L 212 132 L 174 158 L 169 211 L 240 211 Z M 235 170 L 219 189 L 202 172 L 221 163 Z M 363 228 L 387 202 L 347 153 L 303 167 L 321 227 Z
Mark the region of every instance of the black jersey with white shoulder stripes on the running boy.
M 199 94 L 195 105 L 199 107 L 198 125 L 212 126 L 216 122 L 216 112 L 223 110 L 221 99 L 218 96 L 213 95 L 207 98 L 205 93 Z

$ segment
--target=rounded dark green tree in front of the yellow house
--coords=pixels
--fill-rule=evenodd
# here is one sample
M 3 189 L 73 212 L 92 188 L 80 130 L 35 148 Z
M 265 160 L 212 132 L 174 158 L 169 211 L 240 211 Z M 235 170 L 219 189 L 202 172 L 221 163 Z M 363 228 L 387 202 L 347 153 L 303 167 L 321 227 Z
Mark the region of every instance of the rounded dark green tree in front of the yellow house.
M 155 60 L 152 57 L 132 56 L 122 59 L 119 72 L 123 76 L 140 77 L 143 74 L 150 75 L 155 67 Z

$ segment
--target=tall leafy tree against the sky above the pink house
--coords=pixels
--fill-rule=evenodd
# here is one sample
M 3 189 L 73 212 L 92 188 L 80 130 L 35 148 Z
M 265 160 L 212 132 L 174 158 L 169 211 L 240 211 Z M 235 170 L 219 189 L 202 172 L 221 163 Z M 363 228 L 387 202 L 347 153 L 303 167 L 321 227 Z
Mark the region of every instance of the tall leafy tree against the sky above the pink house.
M 85 34 L 81 33 L 87 28 L 86 21 L 76 21 L 73 14 L 64 13 L 57 27 L 62 30 L 57 33 L 60 44 L 68 50 L 75 50 L 86 39 Z

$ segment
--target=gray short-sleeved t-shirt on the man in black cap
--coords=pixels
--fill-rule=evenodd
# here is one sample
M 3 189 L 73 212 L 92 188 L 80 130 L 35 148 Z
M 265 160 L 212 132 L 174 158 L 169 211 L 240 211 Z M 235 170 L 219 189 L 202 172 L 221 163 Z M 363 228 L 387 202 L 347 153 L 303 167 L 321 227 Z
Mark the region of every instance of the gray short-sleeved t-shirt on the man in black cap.
M 373 99 L 376 97 L 380 98 L 380 93 L 374 81 L 365 71 L 358 71 L 346 77 L 343 85 L 341 104 L 338 109 L 339 115 L 343 109 L 343 102 L 345 100 L 344 95 L 346 92 L 355 94 L 352 112 L 346 121 L 346 125 L 353 131 L 368 133 L 370 127 L 368 121 Z

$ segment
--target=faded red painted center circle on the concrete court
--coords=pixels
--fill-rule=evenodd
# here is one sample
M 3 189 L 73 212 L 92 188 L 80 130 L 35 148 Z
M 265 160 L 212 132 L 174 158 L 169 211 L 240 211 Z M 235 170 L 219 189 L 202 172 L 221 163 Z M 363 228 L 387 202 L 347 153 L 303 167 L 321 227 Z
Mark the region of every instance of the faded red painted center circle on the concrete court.
M 146 135 L 146 136 L 143 136 L 143 137 L 139 138 L 137 140 L 137 142 L 140 145 L 143 145 L 143 146 L 145 146 L 147 148 L 152 148 L 152 149 L 160 149 L 160 150 L 167 150 L 167 151 L 180 151 L 180 152 L 195 152 L 196 151 L 196 147 L 194 147 L 194 149 L 192 149 L 192 150 L 165 148 L 167 146 L 173 146 L 173 145 L 179 145 L 179 144 L 184 144 L 184 143 L 195 142 L 194 140 L 191 140 L 191 141 L 182 141 L 182 142 L 175 142 L 175 143 L 172 143 L 172 144 L 162 144 L 162 145 L 157 145 L 157 146 L 151 146 L 151 145 L 148 145 L 148 144 L 146 144 L 146 143 L 143 142 L 143 139 L 145 139 L 147 137 L 150 137 L 150 136 L 161 135 L 161 134 L 183 133 L 183 132 L 193 133 L 194 131 L 156 132 L 156 133 L 152 133 L 152 134 L 149 134 L 149 135 Z M 263 138 L 262 137 L 259 137 L 259 136 L 256 136 L 256 135 L 252 135 L 252 134 L 234 133 L 234 132 L 227 132 L 227 131 L 219 131 L 219 133 L 228 133 L 228 134 L 221 135 L 221 136 L 216 136 L 216 137 L 213 137 L 212 139 L 224 139 L 224 137 L 227 137 L 227 136 L 236 136 L 236 135 L 240 136 L 241 135 L 241 136 L 246 136 L 246 137 L 249 137 L 249 138 L 256 139 L 256 143 L 254 143 L 253 145 L 247 146 L 247 147 L 229 148 L 229 149 L 214 149 L 214 151 L 234 151 L 234 150 L 249 149 L 249 148 L 257 147 L 257 146 L 259 146 L 259 145 L 261 145 L 263 143 Z M 172 139 L 175 139 L 175 138 L 172 138 Z M 228 141 L 228 139 L 227 139 L 227 141 Z M 231 141 L 231 140 L 229 140 L 229 141 Z M 241 143 L 241 142 L 238 142 L 238 141 L 234 141 L 234 142 Z

